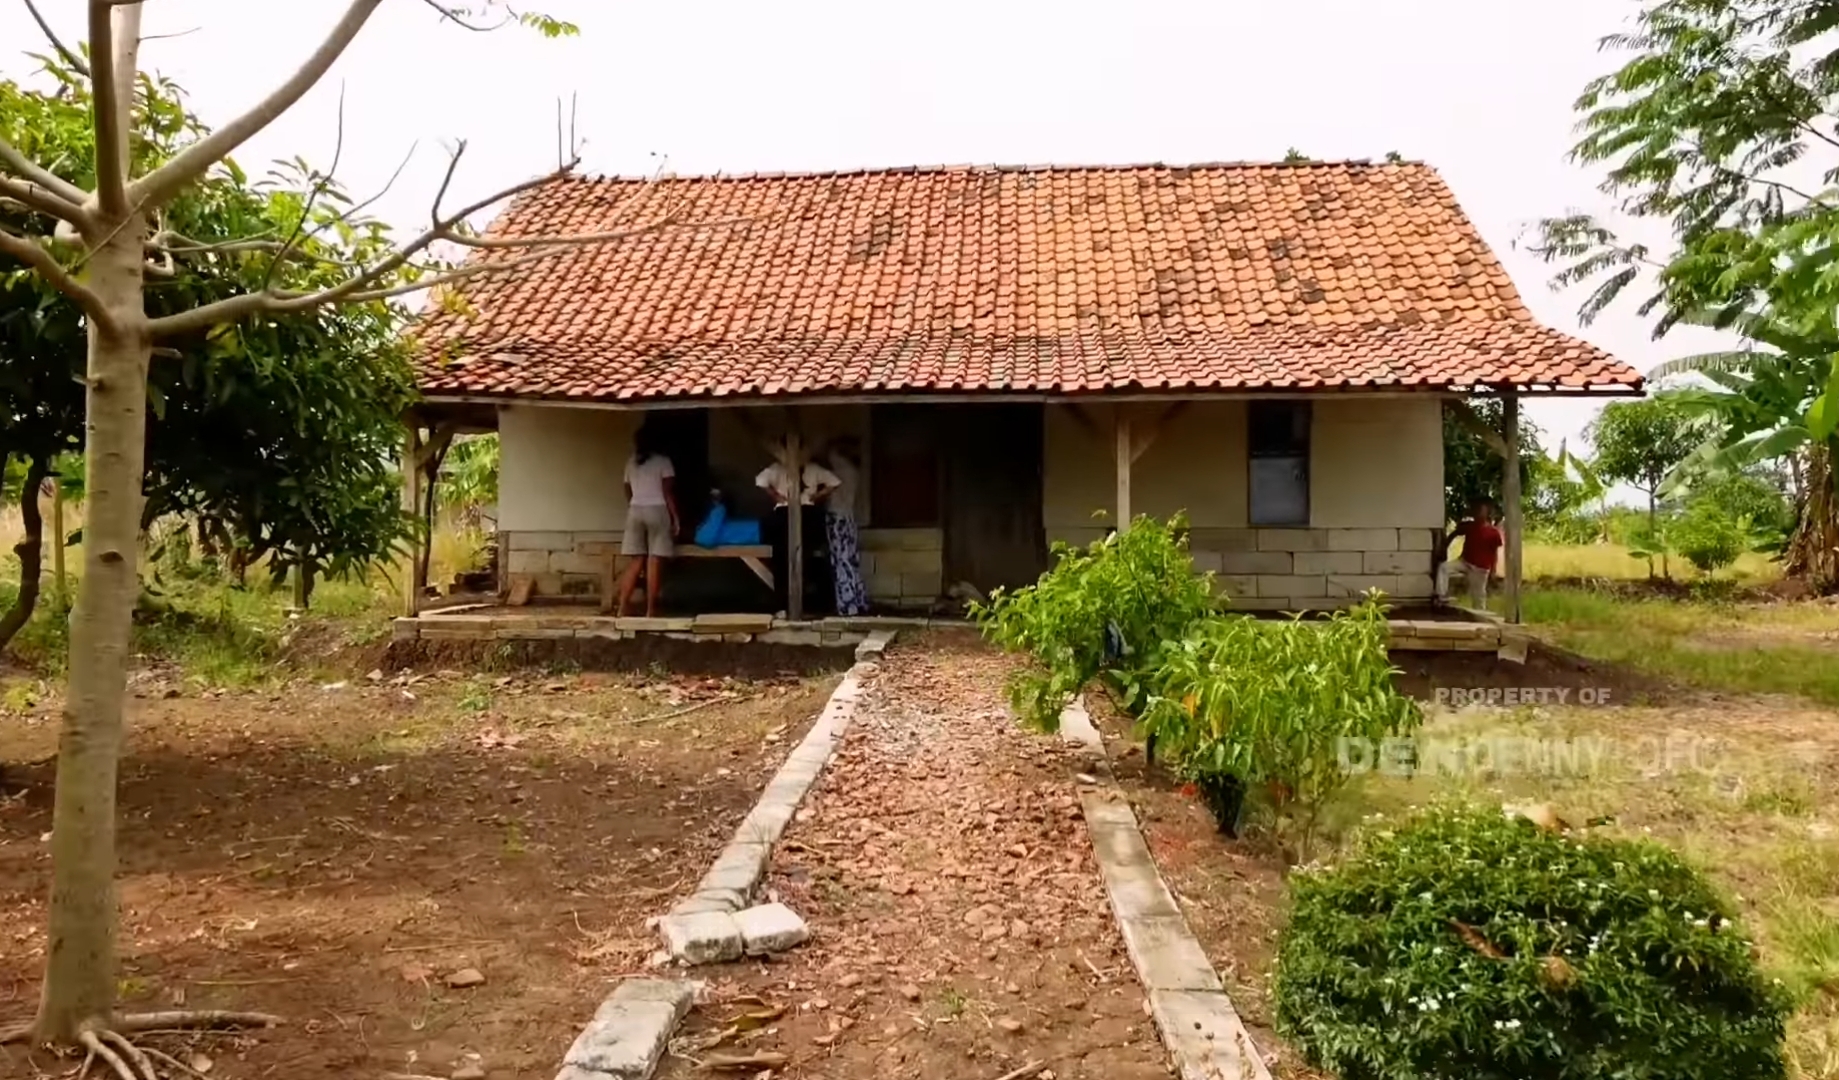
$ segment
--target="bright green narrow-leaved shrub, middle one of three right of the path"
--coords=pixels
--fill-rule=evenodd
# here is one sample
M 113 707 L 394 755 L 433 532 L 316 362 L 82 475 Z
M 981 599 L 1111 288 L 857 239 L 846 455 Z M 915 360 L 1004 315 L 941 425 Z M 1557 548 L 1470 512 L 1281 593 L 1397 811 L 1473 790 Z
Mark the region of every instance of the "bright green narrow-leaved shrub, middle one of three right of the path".
M 1377 594 L 1328 618 L 1206 618 L 1162 649 L 1142 729 L 1199 786 L 1230 776 L 1269 795 L 1280 819 L 1313 826 L 1348 780 L 1342 740 L 1422 723 L 1394 673 Z M 1228 821 L 1221 826 L 1230 832 Z

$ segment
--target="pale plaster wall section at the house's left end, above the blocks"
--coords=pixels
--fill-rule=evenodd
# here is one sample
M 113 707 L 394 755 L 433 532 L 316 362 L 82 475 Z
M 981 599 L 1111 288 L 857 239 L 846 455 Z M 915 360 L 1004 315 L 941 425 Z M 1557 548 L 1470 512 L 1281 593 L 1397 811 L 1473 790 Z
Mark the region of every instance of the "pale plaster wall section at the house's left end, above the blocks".
M 625 458 L 640 412 L 498 408 L 498 530 L 625 528 Z

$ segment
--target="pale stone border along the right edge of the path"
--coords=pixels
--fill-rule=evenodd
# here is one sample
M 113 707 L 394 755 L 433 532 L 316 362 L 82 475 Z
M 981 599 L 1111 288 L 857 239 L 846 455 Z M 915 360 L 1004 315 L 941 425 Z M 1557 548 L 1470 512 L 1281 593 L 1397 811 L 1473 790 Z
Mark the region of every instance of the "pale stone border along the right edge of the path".
M 1103 786 L 1079 793 L 1085 832 L 1149 1014 L 1182 1080 L 1271 1080 L 1206 949 L 1162 881 L 1137 815 L 1111 778 L 1105 743 L 1078 697 L 1059 714 L 1063 740 L 1092 753 Z

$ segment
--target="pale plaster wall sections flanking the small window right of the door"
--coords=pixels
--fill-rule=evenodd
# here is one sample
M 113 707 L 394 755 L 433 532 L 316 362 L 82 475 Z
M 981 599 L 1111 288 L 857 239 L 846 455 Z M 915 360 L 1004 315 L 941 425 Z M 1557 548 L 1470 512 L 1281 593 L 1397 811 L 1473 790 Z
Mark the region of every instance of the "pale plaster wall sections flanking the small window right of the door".
M 1315 397 L 1309 528 L 1440 528 L 1444 524 L 1442 399 Z M 1135 405 L 1142 427 L 1168 407 Z M 1079 412 L 1089 418 L 1081 423 Z M 1245 401 L 1194 401 L 1173 412 L 1131 471 L 1131 510 L 1188 513 L 1195 528 L 1243 528 L 1247 517 Z M 1114 408 L 1046 410 L 1048 539 L 1087 541 L 1114 510 Z

